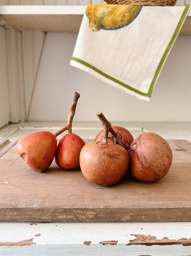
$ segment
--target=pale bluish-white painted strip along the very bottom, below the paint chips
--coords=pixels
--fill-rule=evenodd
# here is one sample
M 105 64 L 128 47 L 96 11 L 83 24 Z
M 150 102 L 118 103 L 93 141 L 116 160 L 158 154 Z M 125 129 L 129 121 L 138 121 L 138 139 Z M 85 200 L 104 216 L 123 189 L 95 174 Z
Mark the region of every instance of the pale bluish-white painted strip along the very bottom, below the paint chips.
M 0 247 L 0 256 L 189 256 L 191 246 L 144 246 L 126 244 L 48 244 L 24 247 Z

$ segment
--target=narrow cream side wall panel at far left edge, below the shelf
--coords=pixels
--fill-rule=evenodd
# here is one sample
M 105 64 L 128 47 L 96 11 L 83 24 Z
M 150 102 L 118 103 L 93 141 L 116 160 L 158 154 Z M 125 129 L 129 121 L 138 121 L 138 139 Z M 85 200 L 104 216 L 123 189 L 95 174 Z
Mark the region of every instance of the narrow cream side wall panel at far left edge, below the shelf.
M 0 128 L 10 122 L 10 99 L 5 28 L 0 27 Z

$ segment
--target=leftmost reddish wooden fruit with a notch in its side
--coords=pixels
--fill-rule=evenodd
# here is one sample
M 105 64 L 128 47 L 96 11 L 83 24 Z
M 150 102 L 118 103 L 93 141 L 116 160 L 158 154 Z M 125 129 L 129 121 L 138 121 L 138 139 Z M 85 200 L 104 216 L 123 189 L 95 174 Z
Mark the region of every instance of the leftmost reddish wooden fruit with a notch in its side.
M 35 171 L 45 171 L 51 165 L 57 148 L 56 136 L 49 131 L 31 133 L 19 139 L 16 151 Z

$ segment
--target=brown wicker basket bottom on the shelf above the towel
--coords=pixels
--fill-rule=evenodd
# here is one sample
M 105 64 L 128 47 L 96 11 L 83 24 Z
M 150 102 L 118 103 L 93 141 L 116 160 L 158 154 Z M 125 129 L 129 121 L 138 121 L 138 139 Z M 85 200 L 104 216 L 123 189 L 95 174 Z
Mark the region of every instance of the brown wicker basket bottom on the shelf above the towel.
M 173 6 L 176 0 L 105 0 L 107 4 L 122 4 L 122 5 L 163 5 Z

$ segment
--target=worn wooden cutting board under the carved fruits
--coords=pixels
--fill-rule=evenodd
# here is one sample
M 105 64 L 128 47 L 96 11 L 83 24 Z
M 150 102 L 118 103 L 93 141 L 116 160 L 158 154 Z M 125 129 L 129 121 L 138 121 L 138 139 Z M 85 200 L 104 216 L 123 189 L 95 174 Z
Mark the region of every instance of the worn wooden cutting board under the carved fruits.
M 129 173 L 110 187 L 53 161 L 36 172 L 15 146 L 0 158 L 0 221 L 191 221 L 191 143 L 168 140 L 173 162 L 155 183 Z

